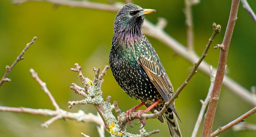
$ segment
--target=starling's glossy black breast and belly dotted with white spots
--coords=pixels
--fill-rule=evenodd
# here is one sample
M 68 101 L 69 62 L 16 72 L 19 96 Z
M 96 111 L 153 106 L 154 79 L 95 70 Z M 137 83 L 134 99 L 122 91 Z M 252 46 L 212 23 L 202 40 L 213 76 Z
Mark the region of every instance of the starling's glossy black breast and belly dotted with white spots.
M 154 102 L 161 99 L 160 94 L 137 62 L 136 57 L 126 58 L 112 46 L 109 65 L 115 80 L 130 97 L 144 102 Z

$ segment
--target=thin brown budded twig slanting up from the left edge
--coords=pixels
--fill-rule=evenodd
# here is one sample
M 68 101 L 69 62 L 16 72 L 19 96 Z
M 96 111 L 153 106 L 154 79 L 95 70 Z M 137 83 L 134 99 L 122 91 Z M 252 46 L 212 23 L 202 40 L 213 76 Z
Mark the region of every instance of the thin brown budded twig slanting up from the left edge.
M 23 54 L 27 51 L 27 49 L 33 44 L 35 43 L 35 40 L 37 39 L 37 37 L 35 36 L 32 41 L 30 43 L 28 43 L 26 45 L 26 47 L 22 50 L 22 52 L 20 53 L 20 55 L 17 57 L 17 59 L 13 62 L 13 64 L 11 65 L 11 67 L 6 66 L 6 73 L 4 74 L 3 78 L 0 80 L 0 87 L 2 86 L 2 84 L 6 81 L 11 81 L 11 79 L 6 78 L 8 76 L 8 74 L 11 72 L 11 70 L 13 69 L 13 67 L 22 59 L 24 59 Z

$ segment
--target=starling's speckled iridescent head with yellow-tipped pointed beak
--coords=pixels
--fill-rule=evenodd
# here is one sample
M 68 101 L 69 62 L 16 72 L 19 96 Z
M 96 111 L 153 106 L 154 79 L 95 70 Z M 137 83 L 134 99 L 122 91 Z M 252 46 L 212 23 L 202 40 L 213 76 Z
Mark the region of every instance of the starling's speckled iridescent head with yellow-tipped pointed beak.
M 135 4 L 125 4 L 115 16 L 114 32 L 141 34 L 144 16 L 156 12 L 154 9 L 143 9 Z

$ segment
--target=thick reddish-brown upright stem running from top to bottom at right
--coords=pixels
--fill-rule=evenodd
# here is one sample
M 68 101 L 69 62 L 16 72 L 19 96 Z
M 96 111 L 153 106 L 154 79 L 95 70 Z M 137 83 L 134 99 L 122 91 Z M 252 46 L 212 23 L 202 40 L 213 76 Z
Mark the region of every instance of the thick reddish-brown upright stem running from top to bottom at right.
M 237 20 L 238 6 L 239 6 L 239 0 L 232 0 L 230 16 L 228 19 L 228 25 L 226 27 L 224 39 L 221 44 L 224 46 L 224 48 L 221 48 L 221 52 L 219 56 L 219 63 L 218 63 L 217 74 L 215 77 L 214 87 L 211 94 L 209 106 L 206 112 L 206 116 L 204 117 L 204 130 L 203 130 L 202 137 L 210 137 L 211 135 L 213 119 L 214 119 L 217 104 L 219 101 L 219 95 L 221 93 L 223 78 L 226 72 L 226 59 L 228 56 L 228 48 L 230 45 L 230 41 L 231 41 L 234 27 Z

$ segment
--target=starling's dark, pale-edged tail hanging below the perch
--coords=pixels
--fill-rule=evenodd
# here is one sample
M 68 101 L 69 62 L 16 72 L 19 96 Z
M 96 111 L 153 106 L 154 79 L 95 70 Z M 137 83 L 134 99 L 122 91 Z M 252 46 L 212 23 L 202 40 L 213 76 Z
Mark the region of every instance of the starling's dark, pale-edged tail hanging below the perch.
M 177 122 L 177 118 L 173 110 L 171 110 L 171 108 L 168 108 L 164 116 L 167 121 L 171 137 L 182 137 L 180 133 L 180 128 Z

